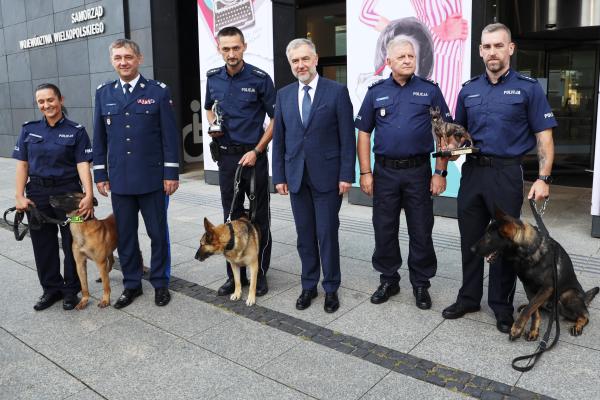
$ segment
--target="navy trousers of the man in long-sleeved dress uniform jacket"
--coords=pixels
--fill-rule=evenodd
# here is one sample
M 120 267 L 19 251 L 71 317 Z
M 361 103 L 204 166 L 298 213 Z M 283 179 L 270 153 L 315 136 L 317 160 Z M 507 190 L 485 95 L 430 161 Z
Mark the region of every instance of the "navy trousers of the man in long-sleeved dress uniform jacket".
M 154 288 L 167 287 L 171 276 L 171 252 L 167 208 L 169 196 L 161 190 L 145 194 L 111 194 L 119 242 L 117 250 L 123 272 L 123 286 L 141 286 L 143 263 L 138 240 L 138 214 L 141 211 L 150 237 L 150 283 Z

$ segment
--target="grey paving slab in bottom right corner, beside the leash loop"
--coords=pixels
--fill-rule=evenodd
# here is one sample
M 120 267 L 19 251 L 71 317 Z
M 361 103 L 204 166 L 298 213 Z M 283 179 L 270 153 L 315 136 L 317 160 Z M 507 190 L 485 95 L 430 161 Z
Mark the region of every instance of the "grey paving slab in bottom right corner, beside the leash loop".
M 523 374 L 518 386 L 557 399 L 595 399 L 600 393 L 598 360 L 598 351 L 559 343 Z

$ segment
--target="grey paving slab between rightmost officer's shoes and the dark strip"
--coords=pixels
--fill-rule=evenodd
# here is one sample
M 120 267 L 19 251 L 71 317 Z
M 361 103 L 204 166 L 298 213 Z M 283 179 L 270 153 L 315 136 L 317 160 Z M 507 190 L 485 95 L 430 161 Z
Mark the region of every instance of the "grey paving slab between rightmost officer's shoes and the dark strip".
M 445 320 L 410 354 L 513 385 L 520 373 L 510 363 L 532 347 L 523 341 L 510 342 L 495 325 L 460 318 Z

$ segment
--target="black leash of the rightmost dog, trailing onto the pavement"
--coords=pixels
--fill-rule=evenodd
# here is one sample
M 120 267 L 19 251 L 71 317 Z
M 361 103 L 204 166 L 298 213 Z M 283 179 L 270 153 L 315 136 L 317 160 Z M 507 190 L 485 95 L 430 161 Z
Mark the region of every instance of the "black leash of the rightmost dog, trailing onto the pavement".
M 542 210 L 541 210 L 542 215 L 544 214 L 544 211 L 546 210 L 547 203 L 548 203 L 548 198 L 546 198 L 544 200 L 544 204 L 542 205 Z M 548 233 L 548 229 L 546 228 L 546 225 L 544 225 L 544 221 L 542 221 L 542 216 L 540 215 L 540 212 L 538 212 L 537 205 L 536 205 L 534 199 L 529 200 L 529 206 L 531 207 L 531 212 L 533 213 L 533 217 L 535 218 L 535 222 L 538 226 L 538 229 L 540 230 L 540 232 L 542 233 L 542 235 L 544 237 L 549 239 L 550 234 Z M 542 356 L 542 354 L 544 354 L 544 352 L 546 350 L 550 350 L 552 347 L 554 347 L 554 345 L 558 342 L 558 338 L 560 337 L 560 323 L 559 323 L 559 318 L 558 318 L 558 271 L 557 271 L 557 268 L 558 268 L 558 266 L 556 263 L 556 251 L 555 251 L 555 253 L 554 253 L 554 269 L 553 269 L 553 277 L 554 277 L 554 296 L 553 296 L 553 305 L 552 305 L 552 314 L 553 315 L 550 317 L 550 319 L 548 321 L 548 326 L 546 328 L 546 332 L 544 333 L 544 338 L 538 345 L 538 348 L 536 349 L 536 351 L 532 354 L 516 357 L 515 359 L 513 359 L 512 367 L 513 367 L 513 369 L 515 369 L 519 372 L 527 372 L 527 371 L 531 370 L 534 367 L 537 360 Z M 550 332 L 552 331 L 552 325 L 554 324 L 554 322 L 556 322 L 556 334 L 554 335 L 554 339 L 552 340 L 552 343 L 550 343 L 548 345 L 548 340 L 550 339 Z M 525 361 L 525 360 L 528 360 L 527 364 L 525 366 L 517 365 L 519 362 Z

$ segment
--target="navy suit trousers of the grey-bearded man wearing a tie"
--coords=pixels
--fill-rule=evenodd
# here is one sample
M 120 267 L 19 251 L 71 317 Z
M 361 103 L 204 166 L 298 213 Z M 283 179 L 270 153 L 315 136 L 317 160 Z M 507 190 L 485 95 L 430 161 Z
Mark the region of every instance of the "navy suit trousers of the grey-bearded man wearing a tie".
M 304 168 L 300 190 L 290 194 L 290 201 L 302 262 L 302 289 L 317 286 L 323 267 L 323 289 L 327 293 L 335 292 L 341 281 L 338 214 L 342 196 L 339 188 L 328 192 L 315 190 Z

